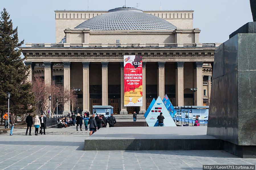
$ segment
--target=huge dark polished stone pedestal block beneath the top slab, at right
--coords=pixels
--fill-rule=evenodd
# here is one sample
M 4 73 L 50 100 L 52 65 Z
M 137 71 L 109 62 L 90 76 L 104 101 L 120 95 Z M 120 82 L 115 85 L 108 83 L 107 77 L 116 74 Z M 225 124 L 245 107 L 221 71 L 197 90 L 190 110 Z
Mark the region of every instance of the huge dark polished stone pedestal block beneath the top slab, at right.
M 255 105 L 256 34 L 236 34 L 215 51 L 207 135 L 256 147 Z

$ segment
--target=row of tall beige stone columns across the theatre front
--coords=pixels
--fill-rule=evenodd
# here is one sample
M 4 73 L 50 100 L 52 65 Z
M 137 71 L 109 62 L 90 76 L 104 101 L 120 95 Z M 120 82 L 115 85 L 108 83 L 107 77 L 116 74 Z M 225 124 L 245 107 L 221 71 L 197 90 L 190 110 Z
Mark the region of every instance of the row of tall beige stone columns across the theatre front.
M 30 73 L 27 81 L 32 81 L 33 77 L 33 62 L 25 62 L 26 65 L 30 65 Z M 89 111 L 90 94 L 89 94 L 89 64 L 90 62 L 82 62 L 83 65 L 83 111 Z M 146 112 L 146 64 L 142 63 L 142 85 L 143 85 L 143 106 L 140 107 L 140 114 Z M 194 62 L 194 87 L 197 91 L 194 93 L 195 104 L 198 106 L 203 105 L 203 77 L 202 77 L 202 64 L 203 62 Z M 44 62 L 44 80 L 46 84 L 50 84 L 52 80 L 52 62 Z M 64 88 L 70 89 L 70 62 L 63 62 L 64 65 Z M 165 62 L 157 62 L 157 95 L 162 99 L 165 96 Z M 102 105 L 108 105 L 108 62 L 101 62 L 102 68 Z M 121 72 L 121 108 L 120 114 L 127 114 L 126 107 L 124 107 L 124 63 L 120 62 L 120 72 Z M 184 62 L 176 62 L 176 106 L 184 105 Z M 208 83 L 210 84 L 210 76 Z M 210 88 L 208 91 L 210 96 Z M 64 113 L 70 111 L 70 102 L 64 104 Z

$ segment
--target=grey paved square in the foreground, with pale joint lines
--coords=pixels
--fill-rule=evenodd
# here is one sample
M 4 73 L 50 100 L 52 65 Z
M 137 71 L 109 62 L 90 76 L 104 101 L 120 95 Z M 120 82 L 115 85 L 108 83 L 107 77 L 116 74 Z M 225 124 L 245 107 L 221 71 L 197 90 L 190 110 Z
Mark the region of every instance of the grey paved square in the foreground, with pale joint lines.
M 38 136 L 25 136 L 26 129 L 16 130 L 13 136 L 0 136 L 0 169 L 198 170 L 205 164 L 256 164 L 256 159 L 222 150 L 84 151 L 89 131 L 76 131 L 74 126 L 50 128 L 46 135 Z

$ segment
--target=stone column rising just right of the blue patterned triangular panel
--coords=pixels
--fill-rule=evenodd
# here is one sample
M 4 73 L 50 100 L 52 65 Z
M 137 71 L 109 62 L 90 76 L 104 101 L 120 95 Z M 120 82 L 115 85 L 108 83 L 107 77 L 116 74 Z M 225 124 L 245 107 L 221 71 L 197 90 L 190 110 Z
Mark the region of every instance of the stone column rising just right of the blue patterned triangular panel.
M 184 106 L 184 78 L 183 78 L 184 62 L 176 63 L 176 106 Z

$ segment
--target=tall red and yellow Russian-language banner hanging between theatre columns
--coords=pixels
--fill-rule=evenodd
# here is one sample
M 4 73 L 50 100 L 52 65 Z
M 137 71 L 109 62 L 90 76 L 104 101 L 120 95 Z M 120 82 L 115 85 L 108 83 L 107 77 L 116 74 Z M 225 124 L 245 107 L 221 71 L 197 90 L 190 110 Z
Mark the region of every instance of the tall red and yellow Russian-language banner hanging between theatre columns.
M 124 106 L 142 106 L 142 56 L 124 56 Z

